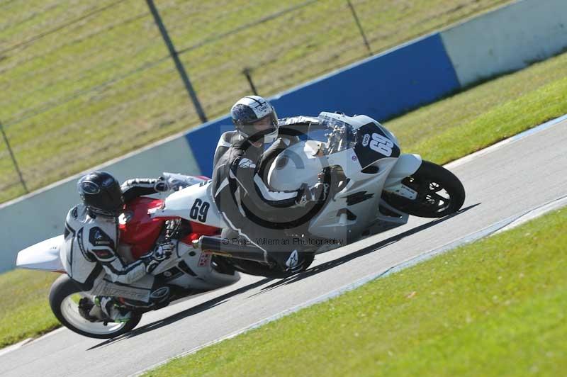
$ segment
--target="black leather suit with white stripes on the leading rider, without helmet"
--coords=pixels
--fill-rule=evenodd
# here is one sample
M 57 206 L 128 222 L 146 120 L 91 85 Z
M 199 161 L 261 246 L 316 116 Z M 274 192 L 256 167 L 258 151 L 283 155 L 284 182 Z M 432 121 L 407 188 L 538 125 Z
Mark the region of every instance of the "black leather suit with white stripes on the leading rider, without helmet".
M 318 118 L 279 120 L 279 138 L 265 152 L 263 145 L 253 145 L 239 131 L 224 133 L 213 160 L 213 197 L 225 222 L 262 249 L 266 262 L 283 271 L 307 268 L 296 236 L 305 234 L 302 225 L 310 218 L 296 213 L 307 213 L 310 204 L 301 203 L 301 189 L 274 191 L 266 184 L 266 177 L 271 161 L 306 134 L 310 125 L 318 125 Z M 301 222 L 293 221 L 299 217 Z

